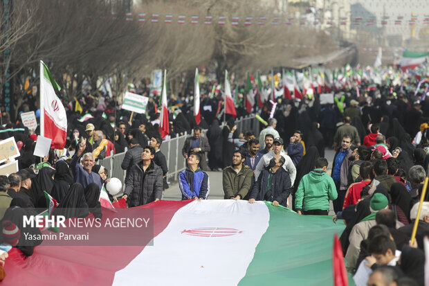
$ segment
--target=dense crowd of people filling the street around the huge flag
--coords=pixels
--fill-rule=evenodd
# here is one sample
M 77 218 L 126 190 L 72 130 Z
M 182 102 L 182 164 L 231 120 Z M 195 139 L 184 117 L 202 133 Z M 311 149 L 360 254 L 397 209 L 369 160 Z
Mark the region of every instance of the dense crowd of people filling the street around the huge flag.
M 181 152 L 187 168 L 177 178 L 182 199 L 208 199 L 208 171 L 223 170 L 224 199 L 269 201 L 299 215 L 334 211 L 333 223 L 343 220 L 346 225 L 340 242 L 356 285 L 382 285 L 375 280 L 423 285 L 427 195 L 419 217 L 417 208 L 429 163 L 429 100 L 414 92 L 418 81 L 409 77 L 401 86 L 383 82 L 375 87 L 364 81 L 357 89 L 336 90 L 335 102 L 321 102 L 318 93 L 302 100 L 280 96 L 273 113 L 268 100 L 260 107 L 256 103 L 255 113 L 267 121 L 259 134 L 239 132 L 230 114 L 221 127 L 221 91 L 210 84 L 201 87 L 197 125 L 190 107 L 192 89 L 185 90 L 169 101 L 170 137 L 191 134 Z M 158 95 L 144 85 L 134 88 L 150 98 L 146 114 L 131 116 L 114 95 L 102 93 L 64 102 L 69 118 L 66 147 L 51 149 L 44 158 L 33 155 L 39 130 L 29 130 L 19 115 L 12 118 L 2 110 L 0 140 L 13 136 L 21 142 L 19 172 L 0 176 L 4 244 L 33 254 L 42 241 L 23 243 L 20 233 L 40 230 L 23 229 L 20 218 L 48 207 L 44 191 L 57 202 L 59 214 L 102 218 L 98 197 L 111 170 L 97 162 L 111 154 L 125 152 L 121 168 L 127 171 L 125 190 L 119 197 L 110 196 L 112 202 L 125 199 L 132 207 L 162 199 L 169 187 L 168 158 L 160 150 Z M 19 114 L 36 108 L 36 97 L 30 95 Z M 81 120 L 84 114 L 91 118 Z M 244 105 L 237 106 L 237 114 L 248 114 Z M 202 129 L 207 129 L 205 136 Z M 104 139 L 108 143 L 94 155 Z M 330 149 L 335 151 L 331 166 L 325 158 Z M 414 220 L 419 220 L 419 228 L 411 244 Z M 7 251 L 1 252 L 0 262 L 6 258 Z

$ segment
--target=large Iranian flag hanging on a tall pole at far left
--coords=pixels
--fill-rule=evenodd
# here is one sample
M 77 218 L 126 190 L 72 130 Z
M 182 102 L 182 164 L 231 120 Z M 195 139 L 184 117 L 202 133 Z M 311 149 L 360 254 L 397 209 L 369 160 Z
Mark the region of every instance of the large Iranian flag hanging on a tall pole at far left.
M 60 85 L 40 61 L 40 135 L 52 139 L 51 148 L 63 149 L 67 139 L 67 114 L 55 90 L 60 91 Z

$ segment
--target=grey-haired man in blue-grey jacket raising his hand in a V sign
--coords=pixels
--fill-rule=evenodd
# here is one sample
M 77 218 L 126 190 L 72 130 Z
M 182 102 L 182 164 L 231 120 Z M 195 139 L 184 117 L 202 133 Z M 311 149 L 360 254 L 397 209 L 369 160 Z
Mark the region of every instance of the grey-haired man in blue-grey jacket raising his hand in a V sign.
M 95 157 L 91 152 L 83 154 L 86 149 L 86 139 L 83 139 L 78 146 L 76 154 L 73 155 L 70 163 L 70 169 L 73 172 L 74 182 L 80 183 L 84 188 L 91 183 L 98 184 L 101 190 L 101 177 L 98 173 L 92 172 L 95 165 Z M 83 156 L 82 156 L 83 154 Z M 80 158 L 82 157 L 82 165 Z

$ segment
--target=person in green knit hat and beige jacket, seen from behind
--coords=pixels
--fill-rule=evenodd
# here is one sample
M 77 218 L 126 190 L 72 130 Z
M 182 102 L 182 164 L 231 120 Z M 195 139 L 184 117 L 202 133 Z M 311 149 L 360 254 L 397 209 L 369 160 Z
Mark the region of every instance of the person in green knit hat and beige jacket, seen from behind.
M 360 253 L 360 242 L 367 239 L 369 229 L 376 225 L 375 216 L 378 211 L 389 207 L 389 200 L 381 193 L 374 193 L 369 202 L 369 211 L 371 214 L 353 226 L 349 235 L 349 247 L 345 255 L 347 260 L 347 270 L 353 272 L 356 269 L 356 261 Z

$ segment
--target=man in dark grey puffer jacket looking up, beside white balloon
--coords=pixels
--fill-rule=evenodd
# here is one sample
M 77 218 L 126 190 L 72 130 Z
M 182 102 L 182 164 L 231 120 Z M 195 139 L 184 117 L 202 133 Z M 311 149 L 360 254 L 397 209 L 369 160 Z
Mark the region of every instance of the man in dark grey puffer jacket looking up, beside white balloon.
M 122 198 L 128 201 L 128 206 L 141 206 L 161 199 L 163 171 L 154 163 L 154 157 L 154 148 L 146 146 L 141 153 L 142 161 L 134 164 L 127 174 Z

